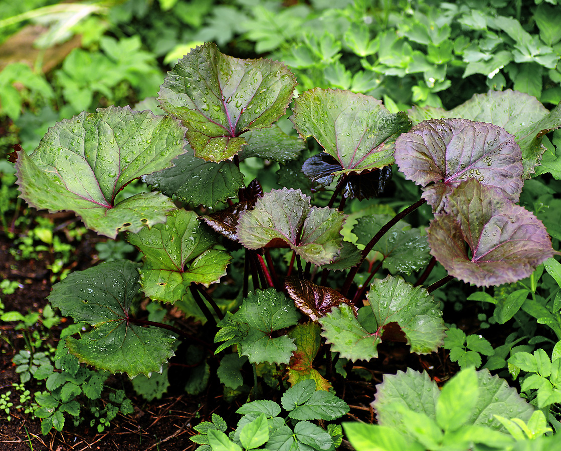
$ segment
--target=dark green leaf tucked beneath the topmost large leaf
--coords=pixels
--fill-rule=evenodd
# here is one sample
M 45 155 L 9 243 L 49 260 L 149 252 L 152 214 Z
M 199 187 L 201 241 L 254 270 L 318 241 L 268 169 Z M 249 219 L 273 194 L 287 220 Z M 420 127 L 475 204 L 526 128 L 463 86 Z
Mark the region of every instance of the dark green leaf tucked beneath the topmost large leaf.
M 174 167 L 149 174 L 143 180 L 186 204 L 214 208 L 217 203 L 236 197 L 243 186 L 243 175 L 232 162 L 206 162 L 188 150 L 173 163 Z

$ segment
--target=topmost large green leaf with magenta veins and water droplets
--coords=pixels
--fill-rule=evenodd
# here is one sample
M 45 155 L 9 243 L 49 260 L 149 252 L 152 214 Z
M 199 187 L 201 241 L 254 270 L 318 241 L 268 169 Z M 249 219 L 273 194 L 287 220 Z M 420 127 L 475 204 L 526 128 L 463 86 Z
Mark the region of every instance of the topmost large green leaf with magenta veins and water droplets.
M 187 127 L 195 155 L 220 162 L 247 145 L 240 135 L 270 127 L 284 114 L 295 86 L 282 63 L 233 58 L 206 43 L 168 72 L 158 100 Z

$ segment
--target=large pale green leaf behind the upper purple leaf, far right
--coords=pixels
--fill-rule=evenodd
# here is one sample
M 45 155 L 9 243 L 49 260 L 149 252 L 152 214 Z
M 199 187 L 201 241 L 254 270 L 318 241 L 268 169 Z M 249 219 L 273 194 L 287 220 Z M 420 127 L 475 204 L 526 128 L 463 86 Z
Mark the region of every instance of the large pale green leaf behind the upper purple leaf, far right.
M 551 112 L 533 95 L 511 89 L 475 94 L 470 100 L 446 111 L 434 107 L 413 107 L 408 112 L 413 123 L 431 118 L 461 117 L 471 121 L 490 122 L 516 135 L 522 151 L 523 178 L 530 178 L 539 165 L 545 147 L 545 132 L 561 127 L 561 105 Z

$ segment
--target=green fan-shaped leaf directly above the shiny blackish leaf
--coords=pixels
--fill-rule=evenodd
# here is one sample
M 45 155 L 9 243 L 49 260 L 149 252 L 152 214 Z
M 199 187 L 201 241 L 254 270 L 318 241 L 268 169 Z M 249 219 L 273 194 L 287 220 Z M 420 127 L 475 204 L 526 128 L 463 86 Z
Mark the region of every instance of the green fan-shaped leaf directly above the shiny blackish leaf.
M 394 162 L 396 137 L 410 128 L 404 112 L 389 113 L 381 100 L 351 91 L 316 88 L 295 100 L 291 121 L 301 137 L 314 136 L 342 166 L 361 173 Z

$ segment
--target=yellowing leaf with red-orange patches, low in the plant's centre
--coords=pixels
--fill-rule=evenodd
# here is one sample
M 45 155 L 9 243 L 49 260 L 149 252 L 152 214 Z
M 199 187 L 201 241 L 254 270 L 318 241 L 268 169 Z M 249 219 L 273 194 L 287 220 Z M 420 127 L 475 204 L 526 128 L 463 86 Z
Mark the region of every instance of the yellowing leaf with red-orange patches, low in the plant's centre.
M 289 330 L 288 337 L 294 339 L 296 351 L 288 362 L 288 382 L 293 386 L 302 380 L 313 380 L 316 390 L 329 390 L 331 384 L 316 370 L 312 363 L 318 354 L 321 328 L 316 323 L 299 324 Z

